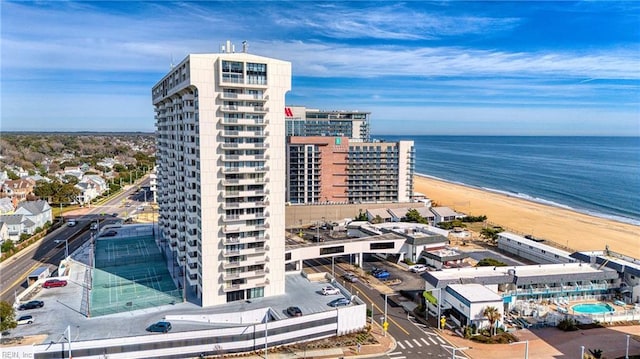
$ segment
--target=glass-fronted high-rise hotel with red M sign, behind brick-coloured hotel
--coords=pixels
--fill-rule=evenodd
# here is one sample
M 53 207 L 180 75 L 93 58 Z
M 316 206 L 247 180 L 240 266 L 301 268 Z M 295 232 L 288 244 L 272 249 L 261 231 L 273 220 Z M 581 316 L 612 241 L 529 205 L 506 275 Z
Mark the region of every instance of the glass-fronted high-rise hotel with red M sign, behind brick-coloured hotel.
M 287 137 L 347 137 L 350 142 L 371 140 L 370 112 L 322 111 L 304 106 L 285 108 Z

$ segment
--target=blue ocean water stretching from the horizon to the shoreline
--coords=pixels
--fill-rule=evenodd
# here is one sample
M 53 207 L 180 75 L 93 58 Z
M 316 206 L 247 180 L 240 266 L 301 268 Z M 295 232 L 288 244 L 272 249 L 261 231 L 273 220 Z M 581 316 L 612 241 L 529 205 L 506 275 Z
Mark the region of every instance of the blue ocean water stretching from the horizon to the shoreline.
M 640 225 L 640 137 L 380 138 L 413 140 L 421 175 Z

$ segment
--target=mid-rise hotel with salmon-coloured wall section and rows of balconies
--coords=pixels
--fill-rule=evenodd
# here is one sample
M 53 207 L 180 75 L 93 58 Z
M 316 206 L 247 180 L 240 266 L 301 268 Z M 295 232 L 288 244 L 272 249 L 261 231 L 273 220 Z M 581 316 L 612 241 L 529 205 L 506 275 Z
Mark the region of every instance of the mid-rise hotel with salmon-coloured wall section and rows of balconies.
M 287 202 L 409 202 L 413 141 L 351 142 L 346 136 L 287 139 Z

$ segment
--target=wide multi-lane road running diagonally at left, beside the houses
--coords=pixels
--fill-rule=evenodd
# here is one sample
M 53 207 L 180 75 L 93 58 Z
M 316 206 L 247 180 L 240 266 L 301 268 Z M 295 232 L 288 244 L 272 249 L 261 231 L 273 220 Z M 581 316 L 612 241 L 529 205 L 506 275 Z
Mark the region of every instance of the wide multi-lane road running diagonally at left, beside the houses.
M 0 263 L 0 300 L 13 303 L 15 296 L 27 288 L 28 275 L 39 267 L 46 266 L 55 275 L 58 264 L 65 255 L 65 241 L 69 246 L 69 253 L 73 253 L 91 238 L 91 222 L 99 220 L 102 226 L 118 220 L 118 217 L 128 211 L 123 203 L 138 199 L 137 188 L 148 182 L 148 178 L 142 179 L 103 205 L 88 209 L 87 214 L 65 216 L 65 220 L 75 218 L 77 224 L 73 227 L 62 225 L 29 248 Z M 114 213 L 117 217 L 113 216 Z

